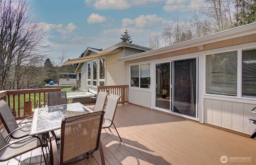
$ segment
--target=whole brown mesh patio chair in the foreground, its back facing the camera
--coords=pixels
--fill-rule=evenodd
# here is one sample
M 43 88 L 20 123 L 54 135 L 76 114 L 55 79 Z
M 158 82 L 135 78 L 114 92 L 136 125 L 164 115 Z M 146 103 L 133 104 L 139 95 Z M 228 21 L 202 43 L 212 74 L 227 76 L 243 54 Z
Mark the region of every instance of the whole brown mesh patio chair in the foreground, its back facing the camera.
M 102 165 L 105 165 L 100 134 L 104 111 L 63 118 L 60 144 L 50 137 L 50 163 L 73 164 L 89 157 L 100 149 Z M 58 151 L 60 153 L 58 154 Z M 60 157 L 58 158 L 58 155 Z

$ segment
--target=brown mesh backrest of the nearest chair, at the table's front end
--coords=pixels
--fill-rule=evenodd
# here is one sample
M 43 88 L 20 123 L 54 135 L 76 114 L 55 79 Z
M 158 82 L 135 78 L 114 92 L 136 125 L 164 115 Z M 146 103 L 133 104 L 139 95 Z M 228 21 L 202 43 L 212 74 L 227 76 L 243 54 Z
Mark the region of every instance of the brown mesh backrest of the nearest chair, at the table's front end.
M 60 164 L 98 149 L 103 116 L 102 110 L 62 119 Z

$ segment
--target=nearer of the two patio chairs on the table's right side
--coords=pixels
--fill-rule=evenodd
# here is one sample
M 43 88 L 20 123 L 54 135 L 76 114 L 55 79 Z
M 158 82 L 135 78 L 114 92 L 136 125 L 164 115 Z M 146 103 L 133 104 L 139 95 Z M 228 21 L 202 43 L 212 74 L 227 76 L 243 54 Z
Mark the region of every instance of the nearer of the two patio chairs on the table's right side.
M 106 108 L 105 108 L 105 114 L 104 114 L 102 128 L 108 128 L 108 130 L 110 130 L 110 126 L 112 126 L 112 124 L 113 124 L 114 128 L 116 129 L 116 126 L 114 124 L 114 117 L 116 114 L 116 108 L 117 108 L 119 98 L 120 98 L 120 96 L 114 95 L 114 94 L 110 94 L 108 96 L 108 101 L 107 101 Z M 110 132 L 111 132 L 111 130 L 110 130 Z M 116 132 L 118 134 L 117 129 L 116 129 Z M 118 134 L 118 136 L 120 138 L 119 134 Z M 120 138 L 120 141 L 122 141 L 121 138 Z

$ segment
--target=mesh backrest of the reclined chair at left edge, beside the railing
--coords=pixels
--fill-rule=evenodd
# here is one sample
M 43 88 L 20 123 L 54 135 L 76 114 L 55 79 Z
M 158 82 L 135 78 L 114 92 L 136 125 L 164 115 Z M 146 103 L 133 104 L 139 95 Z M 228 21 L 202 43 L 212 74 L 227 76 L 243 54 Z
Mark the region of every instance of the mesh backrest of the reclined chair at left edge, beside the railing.
M 0 100 L 0 118 L 8 134 L 10 134 L 12 131 L 19 127 L 10 107 L 4 100 Z

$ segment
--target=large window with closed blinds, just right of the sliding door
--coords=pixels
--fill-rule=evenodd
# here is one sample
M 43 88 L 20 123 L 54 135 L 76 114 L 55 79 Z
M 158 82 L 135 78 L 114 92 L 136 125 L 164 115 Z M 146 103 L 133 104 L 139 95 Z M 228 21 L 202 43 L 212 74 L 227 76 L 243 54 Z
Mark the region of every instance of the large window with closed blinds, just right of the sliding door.
M 237 96 L 237 51 L 206 55 L 206 93 Z

